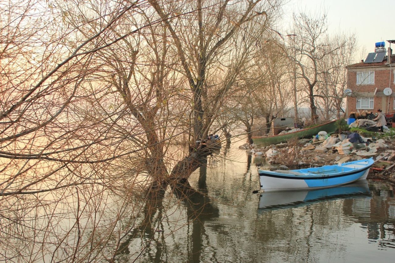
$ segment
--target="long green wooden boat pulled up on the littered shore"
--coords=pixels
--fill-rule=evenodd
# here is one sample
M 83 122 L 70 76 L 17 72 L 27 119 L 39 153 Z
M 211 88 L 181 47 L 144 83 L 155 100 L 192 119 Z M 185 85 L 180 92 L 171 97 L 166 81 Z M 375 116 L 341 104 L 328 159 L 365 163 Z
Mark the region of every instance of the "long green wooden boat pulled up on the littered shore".
M 317 133 L 320 131 L 326 131 L 328 134 L 330 134 L 334 133 L 337 130 L 335 122 L 336 120 L 332 120 L 330 122 L 326 122 L 324 124 L 320 124 L 314 127 L 279 135 L 255 136 L 252 137 L 252 141 L 256 144 L 257 147 L 263 147 L 272 144 L 285 143 L 290 139 L 312 138 L 312 136 L 317 135 Z

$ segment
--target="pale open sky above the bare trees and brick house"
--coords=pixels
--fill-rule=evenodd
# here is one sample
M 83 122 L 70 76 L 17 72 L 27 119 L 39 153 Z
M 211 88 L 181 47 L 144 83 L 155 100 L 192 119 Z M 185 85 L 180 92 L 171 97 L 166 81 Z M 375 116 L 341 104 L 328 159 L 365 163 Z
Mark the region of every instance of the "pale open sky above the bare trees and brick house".
M 395 0 L 289 0 L 286 12 L 327 10 L 331 32 L 355 32 L 359 50 L 374 52 L 376 42 L 395 39 Z M 288 16 L 287 15 L 287 16 Z M 392 18 L 391 18 L 392 17 Z M 395 44 L 391 45 L 395 49 Z

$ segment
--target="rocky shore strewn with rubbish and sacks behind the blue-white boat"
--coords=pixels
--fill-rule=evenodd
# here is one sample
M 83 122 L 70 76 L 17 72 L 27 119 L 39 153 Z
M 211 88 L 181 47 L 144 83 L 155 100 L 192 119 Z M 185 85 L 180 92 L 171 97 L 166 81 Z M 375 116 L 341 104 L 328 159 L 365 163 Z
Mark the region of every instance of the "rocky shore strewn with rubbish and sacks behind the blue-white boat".
M 245 149 L 248 154 L 263 158 L 274 170 L 318 167 L 373 158 L 375 163 L 369 171 L 368 179 L 395 183 L 395 138 L 360 137 L 362 140 L 353 141 L 345 136 L 331 135 L 321 141 L 301 139 L 261 148 L 254 144 L 244 144 L 240 148 Z

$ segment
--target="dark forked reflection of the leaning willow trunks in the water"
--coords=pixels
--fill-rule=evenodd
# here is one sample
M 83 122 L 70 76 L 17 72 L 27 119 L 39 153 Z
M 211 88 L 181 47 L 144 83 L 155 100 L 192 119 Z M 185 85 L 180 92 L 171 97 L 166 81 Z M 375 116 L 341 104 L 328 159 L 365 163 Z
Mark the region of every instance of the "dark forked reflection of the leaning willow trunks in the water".
M 207 166 L 203 165 L 199 171 L 199 184 L 201 184 L 203 191 L 206 187 L 206 173 Z M 165 195 L 166 189 L 171 189 L 172 196 L 177 197 L 182 202 L 181 209 L 184 208 L 186 212 L 185 224 L 192 226 L 192 233 L 188 237 L 192 241 L 192 247 L 187 249 L 188 262 L 200 262 L 200 253 L 203 250 L 203 235 L 205 235 L 204 222 L 218 217 L 219 210 L 211 204 L 205 193 L 196 191 L 188 181 L 151 188 L 145 198 L 143 220 L 139 226 L 130 229 L 129 233 L 125 235 L 126 238 L 119 245 L 117 255 L 130 254 L 130 243 L 134 239 L 141 238 L 141 255 L 145 254 L 152 262 L 160 262 L 162 258 L 166 257 L 164 255 L 166 249 L 162 250 L 162 246 L 166 244 L 164 238 L 173 235 L 173 233 L 165 233 L 164 229 L 164 224 L 167 224 L 166 209 L 168 209 L 164 205 L 164 200 L 167 203 L 168 199 L 171 198 L 171 195 Z M 154 254 L 151 254 L 151 247 L 154 247 Z

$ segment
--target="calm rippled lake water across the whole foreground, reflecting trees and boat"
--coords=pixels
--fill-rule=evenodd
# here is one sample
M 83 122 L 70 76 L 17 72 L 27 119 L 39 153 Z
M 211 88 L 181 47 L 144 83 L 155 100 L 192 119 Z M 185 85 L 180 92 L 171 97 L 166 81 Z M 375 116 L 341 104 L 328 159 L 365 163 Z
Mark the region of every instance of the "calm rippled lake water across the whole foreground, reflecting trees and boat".
M 241 143 L 148 195 L 114 169 L 103 184 L 2 197 L 0 262 L 394 261 L 394 186 L 253 193 L 264 160 Z

